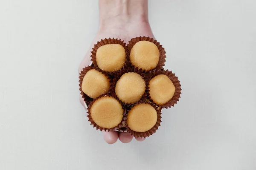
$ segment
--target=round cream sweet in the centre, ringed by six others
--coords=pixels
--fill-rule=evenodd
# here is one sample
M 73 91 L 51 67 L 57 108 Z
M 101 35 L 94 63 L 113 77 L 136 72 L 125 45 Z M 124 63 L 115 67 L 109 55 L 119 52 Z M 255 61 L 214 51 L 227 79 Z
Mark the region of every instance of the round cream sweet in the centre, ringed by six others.
M 139 101 L 145 93 L 146 84 L 140 74 L 125 73 L 116 82 L 116 96 L 125 103 L 131 104 Z

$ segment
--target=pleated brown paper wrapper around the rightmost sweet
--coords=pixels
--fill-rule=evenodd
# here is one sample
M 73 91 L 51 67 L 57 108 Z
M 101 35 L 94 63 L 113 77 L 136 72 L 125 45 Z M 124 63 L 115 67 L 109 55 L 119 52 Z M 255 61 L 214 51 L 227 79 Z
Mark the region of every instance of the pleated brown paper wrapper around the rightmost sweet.
M 169 70 L 155 70 L 152 71 L 151 73 L 148 73 L 151 76 L 151 79 L 159 74 L 164 74 L 167 77 L 169 77 L 169 79 L 172 81 L 173 85 L 175 86 L 175 92 L 174 95 L 172 96 L 172 99 L 170 99 L 167 103 L 163 104 L 163 105 L 158 105 L 156 104 L 150 97 L 150 91 L 148 92 L 148 96 L 149 96 L 149 100 L 150 102 L 154 103 L 154 105 L 156 105 L 156 107 L 160 107 L 160 108 L 171 108 L 172 106 L 174 106 L 177 101 L 179 101 L 180 98 L 180 94 L 181 94 L 181 85 L 180 85 L 180 81 L 178 80 L 178 77 L 175 76 L 175 74 L 172 73 L 172 71 Z

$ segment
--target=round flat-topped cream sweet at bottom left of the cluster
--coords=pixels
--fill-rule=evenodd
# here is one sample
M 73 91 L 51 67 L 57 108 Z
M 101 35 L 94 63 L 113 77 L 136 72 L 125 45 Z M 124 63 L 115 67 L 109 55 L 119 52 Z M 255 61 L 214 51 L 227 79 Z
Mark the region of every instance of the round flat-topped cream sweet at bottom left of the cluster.
M 99 127 L 113 128 L 119 125 L 123 117 L 122 105 L 111 96 L 97 99 L 90 108 L 90 116 Z

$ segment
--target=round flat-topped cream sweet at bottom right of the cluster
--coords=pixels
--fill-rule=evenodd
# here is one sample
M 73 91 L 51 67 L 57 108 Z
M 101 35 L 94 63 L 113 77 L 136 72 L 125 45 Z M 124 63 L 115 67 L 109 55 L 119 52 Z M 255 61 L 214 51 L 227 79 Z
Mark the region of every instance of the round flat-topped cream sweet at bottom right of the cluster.
M 149 104 L 135 105 L 128 112 L 127 125 L 136 132 L 150 130 L 157 122 L 157 111 Z

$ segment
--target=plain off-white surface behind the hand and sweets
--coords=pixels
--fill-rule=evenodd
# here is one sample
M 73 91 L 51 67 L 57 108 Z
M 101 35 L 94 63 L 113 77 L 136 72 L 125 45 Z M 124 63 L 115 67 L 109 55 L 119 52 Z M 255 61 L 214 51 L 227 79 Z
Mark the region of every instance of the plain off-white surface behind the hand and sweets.
M 182 85 L 144 142 L 109 145 L 79 103 L 97 0 L 0 0 L 0 170 L 255 170 L 256 1 L 151 0 Z

